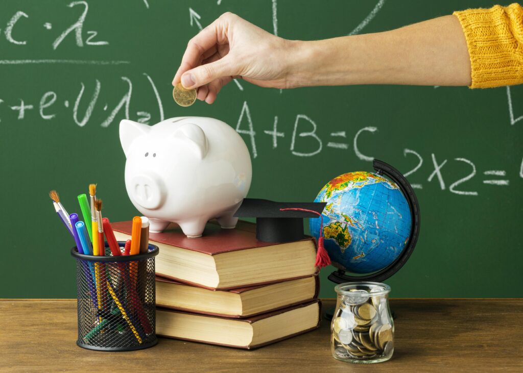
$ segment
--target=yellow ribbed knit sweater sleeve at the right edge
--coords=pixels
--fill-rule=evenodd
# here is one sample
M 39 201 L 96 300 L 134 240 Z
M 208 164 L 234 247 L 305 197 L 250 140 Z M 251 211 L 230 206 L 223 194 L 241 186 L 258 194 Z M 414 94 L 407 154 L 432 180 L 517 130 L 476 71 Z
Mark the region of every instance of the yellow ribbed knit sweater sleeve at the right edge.
M 455 11 L 472 69 L 471 88 L 523 83 L 523 8 L 519 4 Z

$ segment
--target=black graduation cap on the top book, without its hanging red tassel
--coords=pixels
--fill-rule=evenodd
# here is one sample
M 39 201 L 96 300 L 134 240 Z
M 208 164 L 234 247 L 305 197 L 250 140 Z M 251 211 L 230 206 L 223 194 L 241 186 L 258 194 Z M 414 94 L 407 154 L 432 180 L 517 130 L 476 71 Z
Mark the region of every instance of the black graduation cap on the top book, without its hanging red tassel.
M 274 202 L 245 198 L 235 217 L 256 218 L 256 238 L 265 242 L 289 242 L 304 238 L 303 218 L 320 217 L 326 202 Z M 298 208 L 315 211 L 284 210 Z

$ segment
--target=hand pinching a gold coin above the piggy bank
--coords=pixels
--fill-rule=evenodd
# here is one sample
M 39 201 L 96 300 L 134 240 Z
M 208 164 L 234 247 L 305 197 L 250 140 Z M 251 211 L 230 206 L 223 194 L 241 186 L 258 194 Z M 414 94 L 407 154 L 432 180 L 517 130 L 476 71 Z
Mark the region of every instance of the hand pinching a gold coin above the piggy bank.
M 260 87 L 290 88 L 293 46 L 290 40 L 224 13 L 189 41 L 173 86 L 181 81 L 185 88 L 197 88 L 197 98 L 207 103 L 237 77 Z

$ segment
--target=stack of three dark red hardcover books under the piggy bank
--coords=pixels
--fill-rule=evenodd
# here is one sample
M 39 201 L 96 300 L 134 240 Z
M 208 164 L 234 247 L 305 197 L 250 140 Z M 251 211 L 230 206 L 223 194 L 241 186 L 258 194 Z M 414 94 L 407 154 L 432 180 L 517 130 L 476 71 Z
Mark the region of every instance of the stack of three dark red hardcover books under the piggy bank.
M 131 222 L 113 223 L 125 241 Z M 187 238 L 173 225 L 149 239 L 156 257 L 156 334 L 239 348 L 255 348 L 319 326 L 316 244 L 310 237 L 270 243 L 256 225 L 207 224 Z

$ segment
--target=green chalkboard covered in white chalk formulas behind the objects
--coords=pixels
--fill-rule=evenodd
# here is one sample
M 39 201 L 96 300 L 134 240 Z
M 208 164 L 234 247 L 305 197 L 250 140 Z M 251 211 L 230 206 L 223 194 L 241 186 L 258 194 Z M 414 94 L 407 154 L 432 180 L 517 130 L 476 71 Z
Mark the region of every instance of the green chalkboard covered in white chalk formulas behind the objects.
M 253 161 L 250 197 L 312 201 L 333 177 L 372 171 L 368 157 L 405 173 L 416 188 L 422 226 L 411 259 L 388 281 L 392 296 L 522 297 L 523 87 L 280 91 L 239 81 L 211 106 L 181 108 L 171 96 L 187 41 L 225 11 L 284 38 L 313 40 L 492 5 L 2 1 L 0 297 L 76 296 L 73 241 L 48 192 L 58 190 L 72 212 L 76 195 L 96 182 L 105 216 L 130 219 L 137 212 L 124 187 L 118 123 L 180 115 L 218 118 L 242 134 Z M 280 136 L 268 134 L 275 126 Z M 326 278 L 332 270 L 322 270 L 322 297 L 334 295 Z

